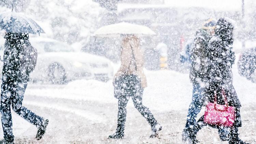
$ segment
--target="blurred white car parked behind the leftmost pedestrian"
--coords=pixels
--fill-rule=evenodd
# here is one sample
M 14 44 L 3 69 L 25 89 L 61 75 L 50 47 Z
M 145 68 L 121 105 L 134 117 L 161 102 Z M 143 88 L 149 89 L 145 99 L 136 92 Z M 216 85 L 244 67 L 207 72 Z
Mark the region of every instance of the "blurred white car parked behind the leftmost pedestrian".
M 107 58 L 76 52 L 65 42 L 49 38 L 30 38 L 38 51 L 37 65 L 30 74 L 31 81 L 65 84 L 73 79 L 108 81 L 113 77 L 112 62 Z

